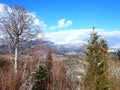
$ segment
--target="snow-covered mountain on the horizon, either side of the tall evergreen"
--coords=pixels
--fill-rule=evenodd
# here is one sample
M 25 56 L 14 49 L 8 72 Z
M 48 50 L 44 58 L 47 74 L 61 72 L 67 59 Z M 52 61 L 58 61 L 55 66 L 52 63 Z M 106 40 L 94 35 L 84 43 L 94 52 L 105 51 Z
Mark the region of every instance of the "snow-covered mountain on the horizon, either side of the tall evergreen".
M 69 54 L 78 54 L 84 52 L 85 49 L 85 42 L 71 42 L 67 44 L 56 44 L 54 42 L 48 41 L 49 46 L 51 48 L 57 49 L 59 54 L 69 55 Z M 117 52 L 120 50 L 120 47 L 113 46 L 112 44 L 109 46 L 108 52 Z

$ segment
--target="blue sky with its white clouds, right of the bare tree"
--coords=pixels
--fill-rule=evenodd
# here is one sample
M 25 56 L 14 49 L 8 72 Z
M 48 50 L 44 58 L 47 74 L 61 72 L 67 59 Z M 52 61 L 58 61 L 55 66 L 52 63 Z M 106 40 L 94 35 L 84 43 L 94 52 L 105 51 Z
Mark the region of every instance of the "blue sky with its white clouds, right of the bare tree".
M 93 26 L 111 44 L 120 40 L 120 0 L 0 0 L 26 6 L 44 27 L 47 37 L 62 43 L 84 42 Z M 102 32 L 102 33 L 101 33 Z M 86 37 L 85 37 L 86 36 Z M 120 43 L 112 43 L 116 46 Z

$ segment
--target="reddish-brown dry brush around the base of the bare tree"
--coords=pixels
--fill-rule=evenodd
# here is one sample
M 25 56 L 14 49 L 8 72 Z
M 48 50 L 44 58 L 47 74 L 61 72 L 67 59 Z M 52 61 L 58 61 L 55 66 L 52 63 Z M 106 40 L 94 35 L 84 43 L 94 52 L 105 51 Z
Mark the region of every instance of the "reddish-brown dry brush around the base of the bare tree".
M 0 90 L 19 90 L 19 87 L 30 76 L 32 70 L 36 68 L 36 60 L 32 56 L 26 55 L 18 57 L 18 73 L 14 73 L 14 55 L 0 55 L 0 60 L 6 63 L 0 67 Z

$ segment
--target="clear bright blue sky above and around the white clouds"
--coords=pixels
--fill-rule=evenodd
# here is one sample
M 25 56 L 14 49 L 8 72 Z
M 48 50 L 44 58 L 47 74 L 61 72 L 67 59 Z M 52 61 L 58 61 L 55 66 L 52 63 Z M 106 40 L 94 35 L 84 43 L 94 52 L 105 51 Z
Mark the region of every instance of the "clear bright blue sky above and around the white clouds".
M 120 29 L 120 0 L 1 0 L 5 4 L 25 5 L 44 21 L 47 32 L 64 29 Z M 69 27 L 49 30 L 61 19 L 71 20 Z

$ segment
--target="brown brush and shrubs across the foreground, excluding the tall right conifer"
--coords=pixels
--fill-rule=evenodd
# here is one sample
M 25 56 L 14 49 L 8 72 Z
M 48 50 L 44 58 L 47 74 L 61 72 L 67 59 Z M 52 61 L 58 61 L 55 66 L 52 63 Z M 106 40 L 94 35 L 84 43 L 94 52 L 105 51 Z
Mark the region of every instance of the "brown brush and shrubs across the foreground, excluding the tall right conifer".
M 110 84 L 114 90 L 120 90 L 120 61 L 115 54 L 108 56 Z M 17 75 L 13 60 L 13 54 L 0 55 L 0 90 L 87 90 L 83 83 L 89 66 L 85 54 L 59 56 L 38 44 L 19 54 Z

